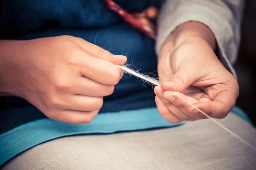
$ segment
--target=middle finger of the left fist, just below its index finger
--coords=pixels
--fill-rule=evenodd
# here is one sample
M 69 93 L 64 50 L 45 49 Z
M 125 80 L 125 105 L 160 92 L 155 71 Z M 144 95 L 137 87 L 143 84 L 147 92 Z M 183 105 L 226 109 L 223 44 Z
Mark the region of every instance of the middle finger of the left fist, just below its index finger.
M 75 81 L 74 81 L 75 82 Z M 114 85 L 103 85 L 86 77 L 81 77 L 71 88 L 72 94 L 84 96 L 103 97 L 111 95 L 114 91 Z

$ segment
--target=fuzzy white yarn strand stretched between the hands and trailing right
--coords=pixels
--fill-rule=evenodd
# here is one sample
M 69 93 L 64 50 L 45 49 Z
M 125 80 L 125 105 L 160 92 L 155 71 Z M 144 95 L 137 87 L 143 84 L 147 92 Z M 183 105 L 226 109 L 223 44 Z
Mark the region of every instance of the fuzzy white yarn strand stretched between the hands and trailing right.
M 134 71 L 128 67 L 126 67 L 125 65 L 116 65 L 117 67 L 121 68 L 123 71 L 127 72 L 128 74 L 131 74 L 135 77 L 139 77 L 140 79 L 145 80 L 146 82 L 149 82 L 153 85 L 157 85 L 160 86 L 160 82 L 157 79 L 154 79 L 152 77 L 148 77 L 147 75 L 141 74 L 138 71 Z M 224 125 L 221 125 L 221 123 L 217 122 L 215 119 L 213 119 L 212 117 L 210 117 L 209 115 L 207 115 L 206 113 L 204 113 L 203 111 L 201 111 L 199 108 L 195 107 L 192 103 L 190 103 L 189 101 L 187 101 L 186 99 L 184 99 L 182 96 L 180 96 L 179 94 L 177 94 L 176 92 L 173 92 L 176 96 L 180 97 L 180 99 L 182 99 L 183 101 L 185 101 L 186 103 L 188 103 L 189 105 L 191 105 L 193 108 L 195 108 L 196 110 L 198 110 L 200 113 L 204 114 L 204 116 L 207 116 L 207 118 L 209 118 L 210 120 L 212 120 L 213 122 L 215 122 L 217 125 L 219 125 L 220 127 L 222 127 L 224 130 L 226 130 L 228 133 L 230 133 L 232 136 L 236 137 L 237 139 L 239 139 L 240 142 L 246 144 L 248 147 L 250 147 L 252 150 L 254 150 L 256 152 L 256 147 L 254 147 L 253 145 L 251 145 L 250 143 L 246 142 L 244 139 L 242 139 L 241 137 L 239 137 L 236 133 L 232 132 L 231 130 L 229 130 L 227 127 L 225 127 Z

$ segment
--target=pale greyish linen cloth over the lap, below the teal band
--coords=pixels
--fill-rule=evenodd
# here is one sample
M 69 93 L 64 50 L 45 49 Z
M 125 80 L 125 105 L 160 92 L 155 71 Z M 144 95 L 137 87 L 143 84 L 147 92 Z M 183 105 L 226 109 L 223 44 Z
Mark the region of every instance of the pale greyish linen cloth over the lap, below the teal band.
M 218 121 L 256 147 L 256 129 L 238 116 Z M 161 130 L 56 139 L 1 170 L 256 170 L 256 152 L 206 119 Z

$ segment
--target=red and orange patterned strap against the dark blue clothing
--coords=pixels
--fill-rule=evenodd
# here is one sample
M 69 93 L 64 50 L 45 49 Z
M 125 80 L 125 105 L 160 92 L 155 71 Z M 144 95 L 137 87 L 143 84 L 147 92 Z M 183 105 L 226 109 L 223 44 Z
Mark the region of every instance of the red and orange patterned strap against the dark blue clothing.
M 155 39 L 156 38 L 156 27 L 154 20 L 157 17 L 158 9 L 155 7 L 148 8 L 142 13 L 129 14 L 122 7 L 113 2 L 113 0 L 105 0 L 108 4 L 108 8 L 118 13 L 124 20 L 135 26 L 144 34 Z

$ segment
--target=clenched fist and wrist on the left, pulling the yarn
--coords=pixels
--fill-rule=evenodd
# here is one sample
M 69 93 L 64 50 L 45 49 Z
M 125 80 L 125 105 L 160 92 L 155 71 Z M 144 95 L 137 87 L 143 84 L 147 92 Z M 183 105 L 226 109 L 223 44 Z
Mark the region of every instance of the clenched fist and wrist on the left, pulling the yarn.
M 89 123 L 97 115 L 103 96 L 112 94 L 122 77 L 115 65 L 127 60 L 72 36 L 13 41 L 11 46 L 4 92 L 71 124 Z

